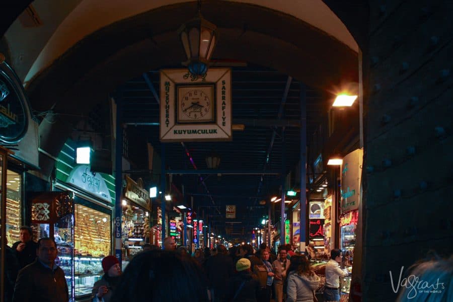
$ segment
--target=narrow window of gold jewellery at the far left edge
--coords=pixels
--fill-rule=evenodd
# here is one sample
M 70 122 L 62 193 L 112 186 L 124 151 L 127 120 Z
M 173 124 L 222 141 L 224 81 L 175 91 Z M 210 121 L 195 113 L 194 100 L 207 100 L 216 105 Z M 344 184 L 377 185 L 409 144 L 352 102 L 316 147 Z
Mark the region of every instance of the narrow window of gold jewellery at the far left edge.
M 19 241 L 21 227 L 21 176 L 11 170 L 7 173 L 6 234 L 8 245 Z

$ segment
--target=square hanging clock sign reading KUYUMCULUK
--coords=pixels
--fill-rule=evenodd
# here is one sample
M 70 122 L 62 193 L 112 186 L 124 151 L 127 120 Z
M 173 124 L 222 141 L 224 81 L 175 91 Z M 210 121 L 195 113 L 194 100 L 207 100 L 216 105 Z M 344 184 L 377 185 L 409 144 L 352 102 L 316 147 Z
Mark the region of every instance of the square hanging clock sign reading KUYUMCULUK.
M 210 68 L 192 81 L 187 69 L 161 69 L 161 141 L 232 140 L 231 69 Z

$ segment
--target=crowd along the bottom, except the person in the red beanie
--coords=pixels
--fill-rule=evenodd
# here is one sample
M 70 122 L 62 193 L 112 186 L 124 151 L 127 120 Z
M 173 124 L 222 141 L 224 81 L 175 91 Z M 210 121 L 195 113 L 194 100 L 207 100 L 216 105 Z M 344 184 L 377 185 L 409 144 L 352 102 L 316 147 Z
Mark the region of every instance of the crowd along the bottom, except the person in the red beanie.
M 163 248 L 145 244 L 123 272 L 116 257 L 103 258 L 104 274 L 93 286 L 92 301 L 270 302 L 271 298 L 275 302 L 318 301 L 315 291 L 320 277 L 307 257 L 295 254 L 290 245 L 280 246 L 277 255 L 265 244 L 257 251 L 249 244 L 229 250 L 218 245 L 190 254 L 186 247 L 177 247 L 175 240 L 168 237 Z M 5 251 L 5 301 L 67 302 L 68 287 L 63 270 L 55 263 L 57 254 L 53 239 L 41 238 L 35 243 L 31 228 L 22 226 L 20 241 Z M 326 302 L 340 300 L 339 277 L 348 274 L 340 268 L 342 257 L 342 251 L 334 249 L 326 264 L 323 294 Z M 410 271 L 426 278 L 440 275 L 448 281 L 443 295 L 451 300 L 448 294 L 453 286 L 452 263 L 452 258 L 430 260 Z M 398 300 L 410 297 L 405 290 L 410 288 L 403 288 Z M 422 296 L 417 301 L 430 301 L 420 299 Z

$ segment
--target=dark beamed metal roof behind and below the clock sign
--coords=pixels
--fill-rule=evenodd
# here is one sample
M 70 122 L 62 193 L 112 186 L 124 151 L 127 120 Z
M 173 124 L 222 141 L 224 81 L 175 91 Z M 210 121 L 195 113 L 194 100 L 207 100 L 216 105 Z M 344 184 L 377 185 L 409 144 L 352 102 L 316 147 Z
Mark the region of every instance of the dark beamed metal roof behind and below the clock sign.
M 118 88 L 125 104 L 123 118 L 128 125 L 129 158 L 137 167 L 137 176 L 144 180 L 146 173 L 141 169 L 147 167 L 145 143 L 151 143 L 155 152 L 161 154 L 158 90 L 159 70 L 150 70 Z M 301 91 L 305 91 L 305 100 Z M 174 182 L 184 186 L 189 205 L 193 197 L 198 214 L 230 239 L 246 237 L 263 215 L 268 214 L 270 196 L 280 194 L 282 161 L 284 177 L 296 169 L 300 158 L 301 98 L 306 103 L 304 131 L 308 136 L 327 112 L 320 91 L 305 87 L 286 74 L 256 65 L 232 67 L 232 95 L 233 124 L 245 126 L 243 130 L 233 131 L 232 141 L 166 143 L 165 146 L 167 170 L 173 174 Z M 206 166 L 205 157 L 211 152 L 221 159 L 216 170 L 208 170 Z M 260 204 L 261 200 L 266 204 Z M 225 205 L 229 204 L 237 207 L 236 219 L 225 218 Z

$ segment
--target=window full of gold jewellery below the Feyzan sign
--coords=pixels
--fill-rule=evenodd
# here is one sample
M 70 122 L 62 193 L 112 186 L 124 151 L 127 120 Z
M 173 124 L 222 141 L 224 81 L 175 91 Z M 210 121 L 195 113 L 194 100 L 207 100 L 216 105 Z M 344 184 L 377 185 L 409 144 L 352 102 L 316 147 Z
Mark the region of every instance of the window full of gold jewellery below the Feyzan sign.
M 110 255 L 110 225 L 109 214 L 75 205 L 75 297 L 91 294 L 94 283 L 104 274 L 101 261 Z

